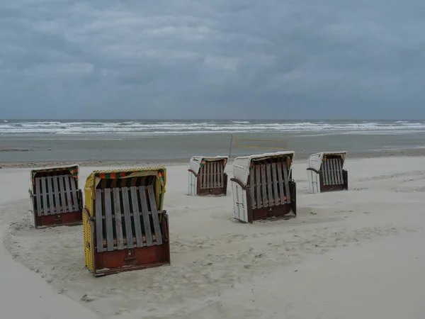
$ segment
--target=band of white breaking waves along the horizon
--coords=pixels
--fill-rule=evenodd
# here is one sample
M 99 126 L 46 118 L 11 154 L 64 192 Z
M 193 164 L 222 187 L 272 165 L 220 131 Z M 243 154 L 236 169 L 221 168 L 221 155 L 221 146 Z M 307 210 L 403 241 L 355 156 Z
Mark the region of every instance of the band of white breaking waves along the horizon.
M 0 134 L 140 134 L 200 133 L 341 133 L 401 134 L 425 132 L 425 122 L 379 121 L 8 121 Z

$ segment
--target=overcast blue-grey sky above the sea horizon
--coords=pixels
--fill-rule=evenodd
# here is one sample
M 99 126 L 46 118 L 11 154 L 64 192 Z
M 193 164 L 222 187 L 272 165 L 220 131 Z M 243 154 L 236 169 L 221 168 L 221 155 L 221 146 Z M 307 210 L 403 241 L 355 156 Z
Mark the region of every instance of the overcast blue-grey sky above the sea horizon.
M 425 118 L 422 0 L 14 0 L 0 118 Z

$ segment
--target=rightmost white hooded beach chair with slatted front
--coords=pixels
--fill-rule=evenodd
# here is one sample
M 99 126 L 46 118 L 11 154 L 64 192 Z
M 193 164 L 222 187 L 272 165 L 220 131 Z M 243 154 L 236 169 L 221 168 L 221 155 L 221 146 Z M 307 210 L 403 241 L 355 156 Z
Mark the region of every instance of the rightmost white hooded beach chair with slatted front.
M 309 193 L 348 189 L 348 172 L 344 169 L 347 152 L 320 152 L 308 159 Z

